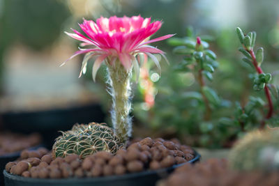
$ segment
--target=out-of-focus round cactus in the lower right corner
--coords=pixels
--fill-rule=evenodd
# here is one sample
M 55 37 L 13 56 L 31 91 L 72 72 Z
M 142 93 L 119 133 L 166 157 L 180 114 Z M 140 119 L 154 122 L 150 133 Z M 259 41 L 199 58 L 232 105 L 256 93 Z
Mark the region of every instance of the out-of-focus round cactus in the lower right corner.
M 229 164 L 241 171 L 279 170 L 279 131 L 246 134 L 229 153 Z

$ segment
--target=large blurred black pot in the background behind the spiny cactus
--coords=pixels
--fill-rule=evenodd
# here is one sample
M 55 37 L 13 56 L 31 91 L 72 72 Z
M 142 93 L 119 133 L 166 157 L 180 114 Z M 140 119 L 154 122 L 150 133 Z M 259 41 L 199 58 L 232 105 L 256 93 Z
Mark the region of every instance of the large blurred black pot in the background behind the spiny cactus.
M 43 111 L 10 111 L 1 115 L 5 130 L 39 132 L 47 148 L 52 148 L 54 139 L 60 135 L 58 131 L 70 130 L 75 123 L 102 123 L 105 120 L 105 114 L 97 103 Z

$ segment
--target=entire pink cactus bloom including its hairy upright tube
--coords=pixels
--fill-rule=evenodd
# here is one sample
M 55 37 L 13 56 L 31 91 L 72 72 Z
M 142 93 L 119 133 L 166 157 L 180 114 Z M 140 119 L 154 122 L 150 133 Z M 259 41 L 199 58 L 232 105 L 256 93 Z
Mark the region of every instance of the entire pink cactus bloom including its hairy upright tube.
M 112 125 L 116 135 L 121 141 L 125 142 L 132 132 L 129 116 L 132 68 L 134 68 L 138 78 L 140 64 L 144 59 L 142 56 L 146 55 L 154 61 L 160 70 L 160 63 L 153 54 L 161 54 L 165 58 L 164 52 L 147 44 L 165 40 L 173 35 L 169 34 L 149 40 L 149 37 L 160 29 L 162 22 L 151 23 L 151 18 L 144 19 L 140 15 L 133 17 L 100 17 L 96 22 L 84 20 L 79 25 L 86 36 L 74 29 L 74 33 L 66 33 L 68 36 L 82 41 L 81 47 L 89 48 L 80 48 L 68 60 L 79 54 L 85 54 L 80 71 L 81 76 L 82 72 L 86 71 L 87 61 L 96 56 L 92 69 L 94 81 L 100 65 L 102 63 L 107 65 L 107 82 L 110 85 L 109 91 L 112 95 Z M 62 65 L 65 63 L 62 63 Z

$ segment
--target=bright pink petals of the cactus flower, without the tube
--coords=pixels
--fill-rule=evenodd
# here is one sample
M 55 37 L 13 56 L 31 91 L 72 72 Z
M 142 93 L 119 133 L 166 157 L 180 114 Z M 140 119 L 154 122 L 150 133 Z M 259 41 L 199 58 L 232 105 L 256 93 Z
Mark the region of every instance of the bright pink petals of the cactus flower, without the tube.
M 162 22 L 156 21 L 151 23 L 151 18 L 144 19 L 140 15 L 133 17 L 100 17 L 96 22 L 84 20 L 84 22 L 79 25 L 82 31 L 86 33 L 86 36 L 75 29 L 72 29 L 74 33 L 65 33 L 76 40 L 82 41 L 80 44 L 81 47 L 89 46 L 90 48 L 80 48 L 80 50 L 75 52 L 68 60 L 73 59 L 73 57 L 79 54 L 86 53 L 82 61 L 81 76 L 82 72 L 86 70 L 87 61 L 92 56 L 97 56 L 92 70 L 94 81 L 96 73 L 104 61 L 110 65 L 120 62 L 126 70 L 130 70 L 130 68 L 134 67 L 138 77 L 140 71 L 139 54 L 149 56 L 160 70 L 160 63 L 153 54 L 161 54 L 165 58 L 165 53 L 147 44 L 165 40 L 173 36 L 169 34 L 149 40 L 149 37 L 160 29 Z M 64 65 L 67 61 L 61 65 Z

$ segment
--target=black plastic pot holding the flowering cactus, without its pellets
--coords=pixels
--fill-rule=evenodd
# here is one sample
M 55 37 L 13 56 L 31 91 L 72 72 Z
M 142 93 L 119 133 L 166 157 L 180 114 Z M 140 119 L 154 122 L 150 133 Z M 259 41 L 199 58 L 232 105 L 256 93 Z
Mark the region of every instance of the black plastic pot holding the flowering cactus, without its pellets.
M 195 152 L 195 157 L 187 163 L 195 163 L 199 161 L 201 156 Z M 183 164 L 177 164 L 166 169 L 156 171 L 142 171 L 140 173 L 127 173 L 121 176 L 105 176 L 100 178 L 65 178 L 65 179 L 40 179 L 40 178 L 24 178 L 15 176 L 3 171 L 6 186 L 153 186 L 156 182 L 165 178 L 169 173 L 174 171 L 176 167 Z

